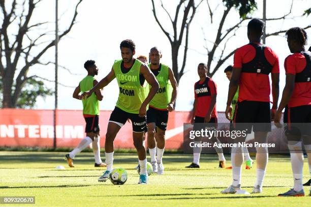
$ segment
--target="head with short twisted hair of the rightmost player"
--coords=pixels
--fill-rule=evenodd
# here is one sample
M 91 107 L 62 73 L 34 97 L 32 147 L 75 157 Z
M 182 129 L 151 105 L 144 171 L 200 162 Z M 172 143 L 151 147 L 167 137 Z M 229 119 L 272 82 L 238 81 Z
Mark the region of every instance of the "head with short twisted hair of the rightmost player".
M 286 32 L 287 43 L 292 53 L 304 50 L 307 44 L 307 34 L 303 28 L 293 27 Z

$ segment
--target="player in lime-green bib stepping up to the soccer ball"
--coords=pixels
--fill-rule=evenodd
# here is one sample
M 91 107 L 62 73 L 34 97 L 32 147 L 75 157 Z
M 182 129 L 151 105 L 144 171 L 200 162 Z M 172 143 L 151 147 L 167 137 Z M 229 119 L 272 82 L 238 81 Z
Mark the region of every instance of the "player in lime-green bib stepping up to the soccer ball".
M 119 97 L 110 115 L 105 142 L 107 170 L 98 181 L 106 182 L 109 179 L 113 164 L 113 141 L 120 128 L 130 119 L 133 127 L 134 146 L 137 150 L 140 165 L 138 184 L 147 184 L 147 159 L 146 150 L 142 144 L 143 134 L 146 129 L 148 103 L 157 93 L 159 83 L 147 65 L 133 58 L 135 43 L 132 40 L 122 41 L 120 50 L 122 59 L 114 62 L 109 74 L 94 88 L 82 94 L 83 96 L 89 96 L 92 92 L 107 86 L 114 78 L 117 79 Z M 146 81 L 151 86 L 148 94 Z

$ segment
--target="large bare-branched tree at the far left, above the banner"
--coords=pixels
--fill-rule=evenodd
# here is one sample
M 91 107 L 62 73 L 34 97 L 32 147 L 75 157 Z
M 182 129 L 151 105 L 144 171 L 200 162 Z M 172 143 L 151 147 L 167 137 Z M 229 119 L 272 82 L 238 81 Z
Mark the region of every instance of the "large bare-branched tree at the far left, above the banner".
M 41 32 L 42 26 L 49 22 L 37 22 L 29 24 L 38 4 L 43 0 L 12 0 L 11 7 L 5 0 L 0 0 L 1 28 L 0 28 L 0 77 L 2 84 L 2 108 L 22 107 L 23 104 L 34 105 L 36 97 L 50 95 L 52 92 L 38 81 L 37 76 L 27 76 L 28 70 L 35 64 L 42 63 L 40 58 L 55 45 L 54 40 L 48 40 L 49 32 Z M 65 37 L 75 24 L 78 15 L 77 9 L 82 0 L 75 5 L 75 12 L 67 29 L 59 34 L 59 39 Z M 22 11 L 20 11 L 22 10 Z M 10 33 L 18 28 L 16 33 Z M 38 30 L 37 35 L 32 33 Z M 35 52 L 36 51 L 36 52 Z M 39 51 L 39 52 L 38 52 Z M 16 74 L 16 76 L 15 76 Z M 23 88 L 34 85 L 35 92 L 29 93 L 29 89 Z M 34 99 L 35 98 L 35 99 Z

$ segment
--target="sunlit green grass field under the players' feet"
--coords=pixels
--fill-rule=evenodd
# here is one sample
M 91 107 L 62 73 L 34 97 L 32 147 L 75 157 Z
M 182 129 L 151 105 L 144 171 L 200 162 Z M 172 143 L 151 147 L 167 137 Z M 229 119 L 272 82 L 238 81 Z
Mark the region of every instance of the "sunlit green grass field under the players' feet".
M 277 197 L 292 187 L 289 157 L 270 155 L 264 191 L 256 195 L 222 195 L 231 184 L 231 170 L 217 168 L 216 155 L 203 155 L 200 169 L 186 169 L 191 155 L 164 156 L 165 175 L 151 175 L 148 185 L 137 185 L 137 155 L 115 154 L 114 167 L 127 169 L 125 185 L 99 183 L 105 169 L 94 167 L 92 153 L 81 153 L 75 168 L 59 152 L 0 152 L 0 196 L 36 196 L 37 206 L 310 206 L 311 197 Z M 230 159 L 229 155 L 226 156 Z M 254 159 L 254 158 L 253 158 Z M 63 165 L 66 170 L 55 170 Z M 230 165 L 230 162 L 227 163 Z M 243 165 L 244 167 L 244 165 Z M 309 179 L 305 159 L 303 181 Z M 242 171 L 242 187 L 251 192 L 256 165 Z M 308 195 L 309 187 L 305 187 Z M 0 204 L 1 205 L 1 204 Z M 3 204 L 2 204 L 3 205 Z M 30 204 L 23 204 L 27 206 Z M 7 204 L 13 206 L 13 204 Z

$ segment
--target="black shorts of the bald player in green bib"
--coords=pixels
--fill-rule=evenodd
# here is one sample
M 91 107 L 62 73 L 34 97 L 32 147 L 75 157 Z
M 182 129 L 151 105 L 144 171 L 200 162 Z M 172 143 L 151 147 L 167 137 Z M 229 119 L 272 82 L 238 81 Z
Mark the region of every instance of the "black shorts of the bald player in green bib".
M 162 130 L 166 130 L 168 121 L 168 111 L 158 110 L 149 107 L 147 111 L 147 124 L 155 123 L 155 126 Z

